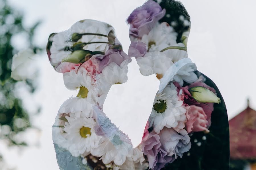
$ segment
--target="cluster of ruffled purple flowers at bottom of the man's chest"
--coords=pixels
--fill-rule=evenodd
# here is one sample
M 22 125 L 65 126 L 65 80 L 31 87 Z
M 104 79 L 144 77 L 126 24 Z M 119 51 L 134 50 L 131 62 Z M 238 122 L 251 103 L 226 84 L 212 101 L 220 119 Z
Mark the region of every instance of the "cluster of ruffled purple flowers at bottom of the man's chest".
M 154 170 L 172 163 L 177 156 L 182 157 L 190 148 L 190 137 L 185 129 L 177 133 L 172 128 L 163 128 L 159 135 L 151 132 L 148 139 L 142 142 L 142 152 L 148 158 L 149 169 Z

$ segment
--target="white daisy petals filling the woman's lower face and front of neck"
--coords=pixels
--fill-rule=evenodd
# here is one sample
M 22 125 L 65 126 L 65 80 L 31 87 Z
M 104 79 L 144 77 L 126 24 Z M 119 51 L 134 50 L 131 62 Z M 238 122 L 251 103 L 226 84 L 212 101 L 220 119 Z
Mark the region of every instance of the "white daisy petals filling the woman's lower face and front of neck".
M 97 75 L 96 85 L 98 89 L 98 100 L 99 105 L 103 105 L 110 87 L 114 84 L 122 84 L 128 80 L 128 63 L 130 60 L 124 60 L 120 66 L 116 63 L 110 63 L 104 67 L 102 73 Z

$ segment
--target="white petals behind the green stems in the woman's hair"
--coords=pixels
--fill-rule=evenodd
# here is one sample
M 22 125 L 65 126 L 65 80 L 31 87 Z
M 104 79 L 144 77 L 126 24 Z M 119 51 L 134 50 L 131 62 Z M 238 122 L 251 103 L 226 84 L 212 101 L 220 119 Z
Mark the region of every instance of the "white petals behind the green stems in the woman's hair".
M 65 51 L 64 48 L 72 47 L 75 42 L 71 41 L 73 33 L 99 33 L 103 35 L 108 35 L 110 30 L 114 30 L 113 27 L 107 23 L 96 21 L 96 20 L 83 20 L 78 21 L 71 26 L 70 29 L 56 33 L 52 38 L 52 46 L 50 48 L 51 52 L 51 64 L 53 66 L 58 65 L 62 62 L 62 59 L 66 58 L 71 51 Z M 77 42 L 108 42 L 107 37 L 98 35 L 83 35 L 81 39 Z M 108 49 L 108 44 L 106 43 L 93 43 L 83 46 L 84 50 L 90 51 L 103 51 Z

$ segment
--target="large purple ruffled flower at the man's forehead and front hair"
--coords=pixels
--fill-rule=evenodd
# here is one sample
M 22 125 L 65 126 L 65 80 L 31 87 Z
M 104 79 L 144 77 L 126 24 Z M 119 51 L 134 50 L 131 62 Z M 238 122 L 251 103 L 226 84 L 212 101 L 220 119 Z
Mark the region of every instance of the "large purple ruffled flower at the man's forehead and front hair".
M 152 0 L 147 1 L 141 7 L 137 7 L 128 17 L 130 24 L 129 34 L 141 38 L 155 26 L 158 20 L 165 15 L 165 9 Z

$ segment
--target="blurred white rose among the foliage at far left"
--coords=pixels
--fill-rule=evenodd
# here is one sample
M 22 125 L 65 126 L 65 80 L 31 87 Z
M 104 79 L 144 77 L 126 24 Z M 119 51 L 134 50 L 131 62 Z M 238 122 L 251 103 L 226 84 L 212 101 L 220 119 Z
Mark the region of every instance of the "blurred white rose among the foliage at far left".
M 22 50 L 13 56 L 11 78 L 17 81 L 33 79 L 36 72 L 36 54 L 32 49 Z

